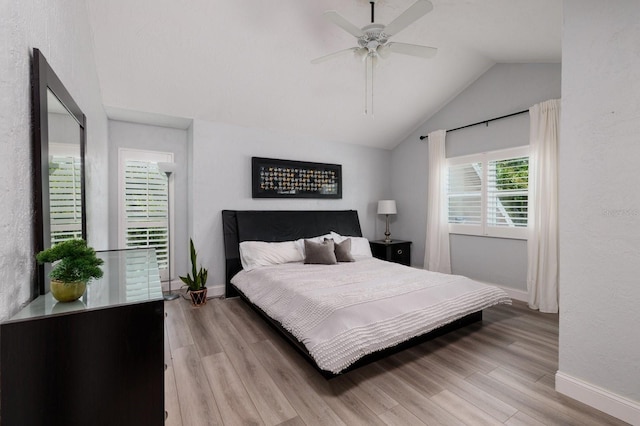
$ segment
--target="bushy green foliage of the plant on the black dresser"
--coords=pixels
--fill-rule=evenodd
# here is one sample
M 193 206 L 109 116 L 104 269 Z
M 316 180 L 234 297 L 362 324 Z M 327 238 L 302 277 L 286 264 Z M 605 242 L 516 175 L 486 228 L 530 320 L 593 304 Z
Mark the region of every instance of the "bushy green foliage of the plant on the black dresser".
M 82 239 L 66 240 L 36 255 L 38 263 L 54 263 L 49 277 L 65 283 L 89 282 L 101 278 L 104 263 Z

